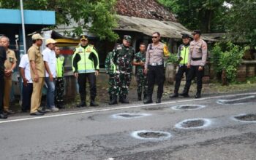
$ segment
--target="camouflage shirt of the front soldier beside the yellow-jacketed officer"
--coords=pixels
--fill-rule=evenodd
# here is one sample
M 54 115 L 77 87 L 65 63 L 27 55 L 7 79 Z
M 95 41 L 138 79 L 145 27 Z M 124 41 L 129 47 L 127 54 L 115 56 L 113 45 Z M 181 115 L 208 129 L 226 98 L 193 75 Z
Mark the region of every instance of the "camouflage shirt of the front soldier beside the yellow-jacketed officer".
M 132 73 L 132 61 L 135 56 L 133 47 L 124 47 L 123 44 L 113 49 L 113 63 L 117 70 L 121 72 Z

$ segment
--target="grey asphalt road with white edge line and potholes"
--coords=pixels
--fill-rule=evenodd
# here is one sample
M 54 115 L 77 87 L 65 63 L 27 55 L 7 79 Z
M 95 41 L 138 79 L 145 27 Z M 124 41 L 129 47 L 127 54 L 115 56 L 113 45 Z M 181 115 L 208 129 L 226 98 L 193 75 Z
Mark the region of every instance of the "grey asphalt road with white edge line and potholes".
M 256 159 L 255 121 L 233 119 L 241 113 L 256 113 L 255 104 L 253 92 L 200 100 L 176 98 L 159 105 L 86 108 L 41 117 L 11 116 L 0 121 L 0 159 Z M 173 109 L 176 105 L 204 108 Z M 136 113 L 137 117 L 123 115 L 121 119 L 115 116 L 118 113 Z M 198 129 L 177 127 L 180 121 L 197 118 L 209 124 Z M 140 130 L 170 135 L 157 134 L 160 139 L 146 140 L 132 137 L 132 132 Z

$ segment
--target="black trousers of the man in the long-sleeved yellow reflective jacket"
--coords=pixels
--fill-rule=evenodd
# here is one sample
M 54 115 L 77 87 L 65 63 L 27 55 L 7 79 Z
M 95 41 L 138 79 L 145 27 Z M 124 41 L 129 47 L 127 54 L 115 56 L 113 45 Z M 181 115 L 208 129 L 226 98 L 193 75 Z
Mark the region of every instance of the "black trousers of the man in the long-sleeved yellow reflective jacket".
M 79 85 L 80 98 L 82 102 L 86 102 L 86 79 L 89 80 L 89 84 L 90 84 L 91 100 L 94 100 L 97 95 L 95 73 L 79 73 L 78 85 Z

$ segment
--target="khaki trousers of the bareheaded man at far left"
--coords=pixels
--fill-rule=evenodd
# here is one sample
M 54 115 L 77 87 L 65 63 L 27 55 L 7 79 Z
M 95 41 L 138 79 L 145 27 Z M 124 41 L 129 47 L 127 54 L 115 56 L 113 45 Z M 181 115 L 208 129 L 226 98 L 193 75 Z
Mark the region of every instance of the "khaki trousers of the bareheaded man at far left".
M 4 111 L 10 107 L 10 93 L 12 89 L 12 78 L 4 77 Z

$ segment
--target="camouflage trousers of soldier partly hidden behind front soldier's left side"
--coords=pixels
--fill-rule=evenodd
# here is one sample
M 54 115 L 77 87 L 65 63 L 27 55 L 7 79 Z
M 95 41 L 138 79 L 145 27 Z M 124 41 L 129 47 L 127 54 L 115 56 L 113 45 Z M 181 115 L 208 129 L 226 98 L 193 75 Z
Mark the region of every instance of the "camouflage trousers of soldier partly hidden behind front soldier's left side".
M 118 87 L 118 74 L 110 74 L 108 80 L 108 94 L 113 96 L 118 96 L 119 94 L 119 87 Z

